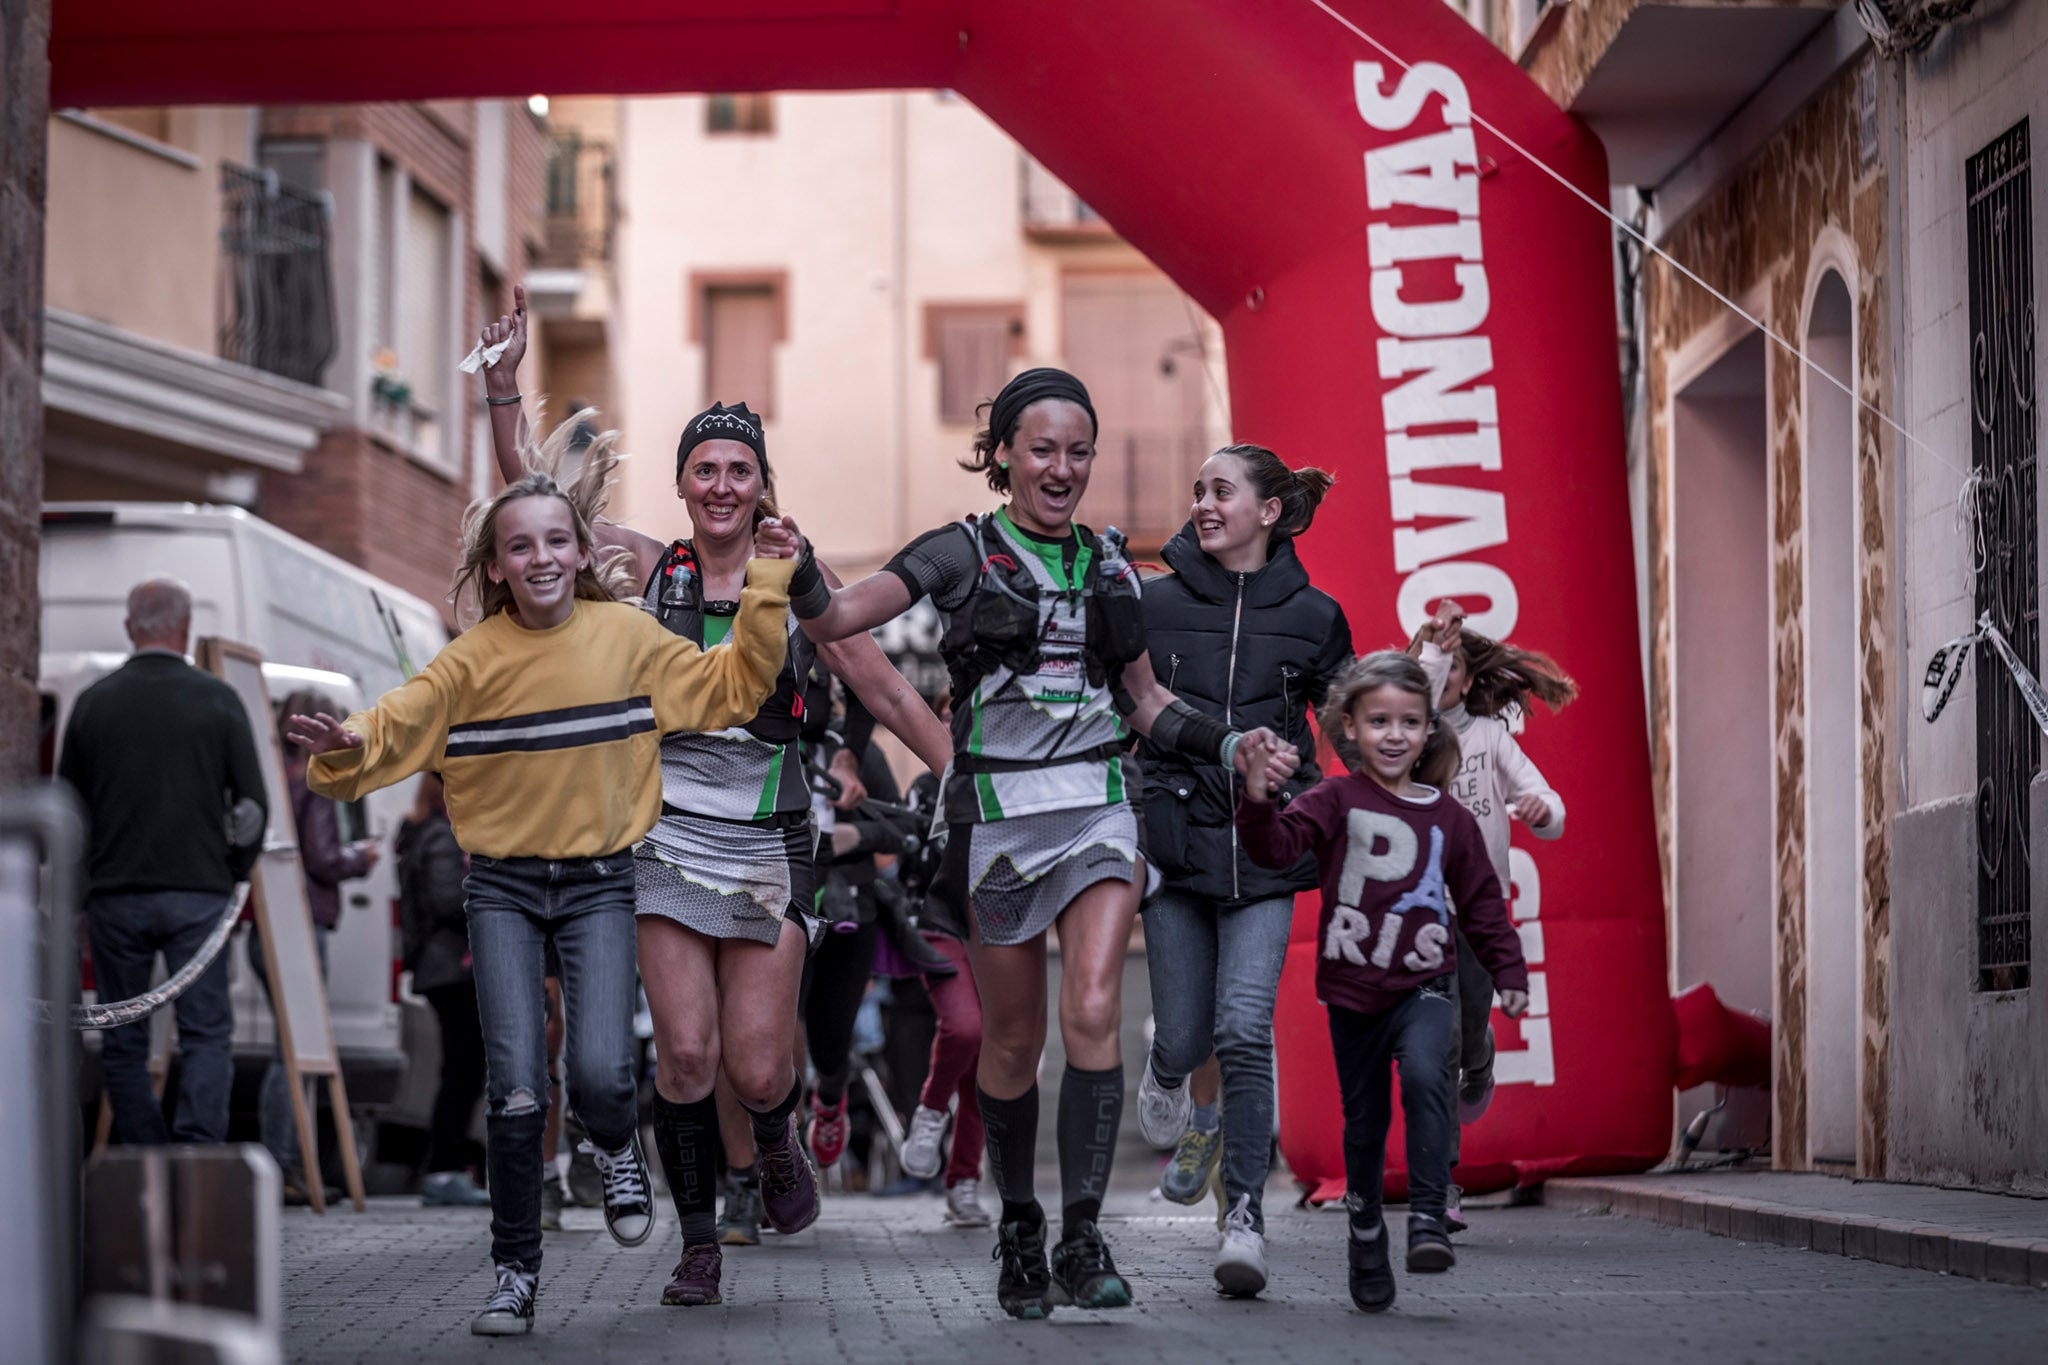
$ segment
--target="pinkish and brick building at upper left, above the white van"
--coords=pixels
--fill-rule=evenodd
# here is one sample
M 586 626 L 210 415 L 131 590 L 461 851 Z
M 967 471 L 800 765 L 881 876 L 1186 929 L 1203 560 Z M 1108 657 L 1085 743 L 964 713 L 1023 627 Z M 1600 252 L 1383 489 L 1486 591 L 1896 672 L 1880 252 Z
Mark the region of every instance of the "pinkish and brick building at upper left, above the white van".
M 442 602 L 545 156 L 516 102 L 57 111 L 43 497 L 244 505 Z

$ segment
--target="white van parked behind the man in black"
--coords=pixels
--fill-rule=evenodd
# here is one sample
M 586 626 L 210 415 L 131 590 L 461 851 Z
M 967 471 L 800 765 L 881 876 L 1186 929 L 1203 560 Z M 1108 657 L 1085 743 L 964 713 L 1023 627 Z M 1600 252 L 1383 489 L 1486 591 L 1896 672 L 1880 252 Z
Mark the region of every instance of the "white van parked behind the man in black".
M 262 653 L 272 700 L 315 688 L 356 710 L 403 681 L 401 653 L 418 669 L 449 643 L 440 614 L 420 598 L 240 508 L 49 503 L 41 553 L 45 772 L 55 769 L 72 700 L 127 659 L 129 589 L 160 573 L 190 585 L 195 639 L 217 634 Z M 414 786 L 401 782 L 340 806 L 342 839 L 383 843 L 371 874 L 344 884 L 342 921 L 328 941 L 334 1044 L 358 1111 L 389 1105 L 406 1081 L 389 839 L 412 808 Z M 225 952 L 242 1070 L 268 1058 L 274 1031 L 242 935 Z

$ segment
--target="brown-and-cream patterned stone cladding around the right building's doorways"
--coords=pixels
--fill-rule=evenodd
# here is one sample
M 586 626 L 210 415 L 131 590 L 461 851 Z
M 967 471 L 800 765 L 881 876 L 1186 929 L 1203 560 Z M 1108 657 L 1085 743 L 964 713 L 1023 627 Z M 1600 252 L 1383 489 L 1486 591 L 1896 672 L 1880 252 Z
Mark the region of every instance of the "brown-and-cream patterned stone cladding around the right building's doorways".
M 1663 241 L 1673 258 L 1729 297 L 1761 291 L 1763 321 L 1778 336 L 1802 334 L 1808 266 L 1831 231 L 1853 244 L 1847 280 L 1855 299 L 1858 395 L 1888 409 L 1890 366 L 1886 325 L 1886 176 L 1860 166 L 1855 82 L 1860 63 L 1843 70 L 1714 196 L 1704 201 Z M 1718 323 L 1722 305 L 1653 260 L 1645 270 L 1645 315 L 1651 424 L 1651 755 L 1659 802 L 1663 862 L 1671 876 L 1673 829 L 1673 639 L 1671 639 L 1671 385 L 1669 360 Z M 1774 868 L 1774 1152 L 1778 1164 L 1806 1158 L 1806 565 L 1802 516 L 1804 422 L 1800 362 L 1769 350 L 1769 540 L 1772 540 L 1772 794 L 1776 847 L 1759 855 Z M 1864 849 L 1864 1076 L 1860 1095 L 1858 1171 L 1886 1169 L 1886 1058 L 1890 972 L 1890 729 L 1892 729 L 1892 458 L 1880 424 L 1858 420 L 1860 526 L 1860 749 Z M 1667 886 L 1667 894 L 1669 894 Z

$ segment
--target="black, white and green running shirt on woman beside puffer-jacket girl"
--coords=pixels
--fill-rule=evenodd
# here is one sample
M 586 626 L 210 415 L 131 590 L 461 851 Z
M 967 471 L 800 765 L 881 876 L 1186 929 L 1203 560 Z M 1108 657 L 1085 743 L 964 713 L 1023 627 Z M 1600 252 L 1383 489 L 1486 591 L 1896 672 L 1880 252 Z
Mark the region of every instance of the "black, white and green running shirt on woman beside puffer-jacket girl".
M 1083 643 L 1092 551 L 1069 532 L 1059 540 L 1020 530 L 997 512 L 985 532 L 989 555 L 1010 555 L 1038 585 L 1038 667 L 1018 675 L 997 665 L 969 698 L 952 698 L 954 753 L 1030 763 L 1020 772 L 963 774 L 946 780 L 946 821 L 985 823 L 1042 810 L 1085 810 L 1126 800 L 1135 780 L 1124 755 L 1059 761 L 1122 741 L 1122 716 L 1106 686 L 1087 681 Z M 930 530 L 887 565 L 903 579 L 911 602 L 930 596 L 940 612 L 956 612 L 981 577 L 975 532 L 965 522 Z

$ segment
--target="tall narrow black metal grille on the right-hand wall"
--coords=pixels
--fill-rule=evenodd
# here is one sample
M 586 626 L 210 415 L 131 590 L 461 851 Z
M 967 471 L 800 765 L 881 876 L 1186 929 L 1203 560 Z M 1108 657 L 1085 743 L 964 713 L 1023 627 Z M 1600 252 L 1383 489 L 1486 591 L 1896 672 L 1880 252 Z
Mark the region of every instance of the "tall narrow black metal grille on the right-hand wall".
M 2028 123 L 1964 168 L 1970 244 L 1970 456 L 1982 563 L 1976 612 L 2040 673 L 2034 411 L 2034 215 Z M 1976 986 L 2023 990 L 2032 968 L 2028 800 L 2040 733 L 1991 643 L 1976 647 Z

